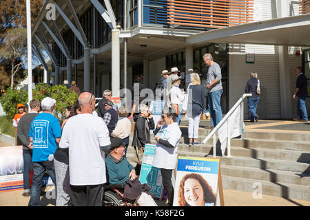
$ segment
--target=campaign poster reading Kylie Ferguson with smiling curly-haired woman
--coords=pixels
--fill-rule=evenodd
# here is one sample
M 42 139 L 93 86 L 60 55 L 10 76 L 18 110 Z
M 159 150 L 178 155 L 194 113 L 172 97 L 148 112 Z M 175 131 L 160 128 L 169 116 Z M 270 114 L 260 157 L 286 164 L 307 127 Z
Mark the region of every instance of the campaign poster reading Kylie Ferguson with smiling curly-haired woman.
M 179 157 L 174 206 L 217 206 L 219 159 Z

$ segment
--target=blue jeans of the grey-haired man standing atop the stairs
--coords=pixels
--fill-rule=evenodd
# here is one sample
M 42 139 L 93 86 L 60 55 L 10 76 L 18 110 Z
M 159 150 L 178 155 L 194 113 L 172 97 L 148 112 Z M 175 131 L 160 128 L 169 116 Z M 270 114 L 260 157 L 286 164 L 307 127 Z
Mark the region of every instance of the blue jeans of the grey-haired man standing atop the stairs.
M 220 96 L 222 96 L 223 89 L 212 91 L 208 93 L 208 107 L 211 117 L 211 126 L 216 126 L 222 120 L 222 107 L 220 107 Z

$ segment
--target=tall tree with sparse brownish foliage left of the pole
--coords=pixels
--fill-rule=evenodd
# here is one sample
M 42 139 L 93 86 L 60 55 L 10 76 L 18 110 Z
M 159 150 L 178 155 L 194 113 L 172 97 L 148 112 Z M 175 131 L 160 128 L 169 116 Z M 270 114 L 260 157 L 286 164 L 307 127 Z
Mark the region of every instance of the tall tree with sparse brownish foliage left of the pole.
M 11 87 L 14 85 L 14 75 L 25 65 L 27 55 L 27 30 L 25 28 L 12 28 L 8 30 L 3 44 L 0 47 L 0 61 L 11 63 Z

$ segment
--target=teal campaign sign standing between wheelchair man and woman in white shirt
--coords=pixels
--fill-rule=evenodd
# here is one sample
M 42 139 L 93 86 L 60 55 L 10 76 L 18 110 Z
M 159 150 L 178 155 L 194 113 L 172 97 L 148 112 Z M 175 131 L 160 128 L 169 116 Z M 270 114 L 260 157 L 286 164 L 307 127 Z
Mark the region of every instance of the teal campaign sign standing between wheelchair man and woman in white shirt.
M 153 166 L 156 145 L 145 144 L 139 181 L 141 184 L 149 185 L 156 197 L 161 198 L 163 192 L 163 178 L 161 169 Z

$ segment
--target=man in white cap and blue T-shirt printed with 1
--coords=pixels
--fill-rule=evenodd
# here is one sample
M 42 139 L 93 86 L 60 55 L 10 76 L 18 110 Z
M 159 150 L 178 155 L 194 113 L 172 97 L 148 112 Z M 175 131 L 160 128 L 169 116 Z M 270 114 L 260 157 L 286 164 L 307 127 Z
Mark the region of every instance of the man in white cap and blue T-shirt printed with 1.
M 31 122 L 29 131 L 30 148 L 32 148 L 33 178 L 28 206 L 40 206 L 40 190 L 45 171 L 56 184 L 53 155 L 56 142 L 61 137 L 61 126 L 57 118 L 52 115 L 56 101 L 50 97 L 41 102 L 42 113 Z

